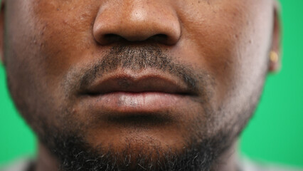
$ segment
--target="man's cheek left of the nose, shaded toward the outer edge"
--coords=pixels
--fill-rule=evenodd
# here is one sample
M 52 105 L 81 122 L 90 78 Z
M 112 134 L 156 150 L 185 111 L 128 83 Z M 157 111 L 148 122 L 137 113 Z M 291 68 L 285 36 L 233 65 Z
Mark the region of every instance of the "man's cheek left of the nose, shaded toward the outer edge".
M 48 113 L 58 113 L 53 110 L 63 102 L 55 96 L 63 94 L 58 90 L 62 77 L 80 58 L 85 59 L 91 43 L 87 30 L 92 16 L 80 9 L 68 13 L 68 6 L 58 6 L 58 2 L 16 0 L 6 4 L 5 56 L 12 97 L 23 115 L 31 118 L 42 113 L 50 122 L 56 119 Z M 80 16 L 83 19 L 75 22 Z

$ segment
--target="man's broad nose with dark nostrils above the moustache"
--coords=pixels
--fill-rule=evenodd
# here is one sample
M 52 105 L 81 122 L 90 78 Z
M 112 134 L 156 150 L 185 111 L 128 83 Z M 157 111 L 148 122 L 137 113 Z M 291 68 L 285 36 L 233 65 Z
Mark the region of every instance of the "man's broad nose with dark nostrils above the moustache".
M 163 0 L 117 0 L 100 6 L 93 36 L 101 45 L 122 40 L 173 45 L 181 28 L 176 11 Z

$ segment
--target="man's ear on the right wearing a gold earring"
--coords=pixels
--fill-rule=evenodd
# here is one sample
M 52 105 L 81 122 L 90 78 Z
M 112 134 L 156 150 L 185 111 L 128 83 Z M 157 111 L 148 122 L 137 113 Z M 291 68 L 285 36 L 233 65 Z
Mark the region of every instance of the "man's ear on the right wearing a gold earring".
M 274 1 L 274 17 L 273 17 L 273 27 L 272 27 L 272 46 L 270 49 L 270 63 L 269 72 L 275 73 L 280 70 L 281 66 L 281 21 L 280 21 L 280 4 Z

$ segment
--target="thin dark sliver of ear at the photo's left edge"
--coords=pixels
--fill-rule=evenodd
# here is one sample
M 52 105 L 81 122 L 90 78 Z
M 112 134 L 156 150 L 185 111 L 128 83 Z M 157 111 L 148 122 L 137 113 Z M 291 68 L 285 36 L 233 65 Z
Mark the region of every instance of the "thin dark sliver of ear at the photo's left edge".
M 4 8 L 5 8 L 5 1 L 2 0 L 1 6 L 0 6 L 0 59 L 1 59 L 1 62 L 4 63 L 4 65 L 5 65 L 5 59 L 4 59 Z

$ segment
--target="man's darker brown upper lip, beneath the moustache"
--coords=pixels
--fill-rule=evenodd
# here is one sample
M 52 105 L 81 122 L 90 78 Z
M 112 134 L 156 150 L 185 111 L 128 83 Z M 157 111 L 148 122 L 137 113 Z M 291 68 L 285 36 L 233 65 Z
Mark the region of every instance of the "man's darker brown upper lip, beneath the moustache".
M 115 92 L 155 92 L 179 95 L 193 95 L 195 93 L 180 78 L 157 71 L 111 73 L 93 81 L 85 92 L 89 95 L 102 95 Z

